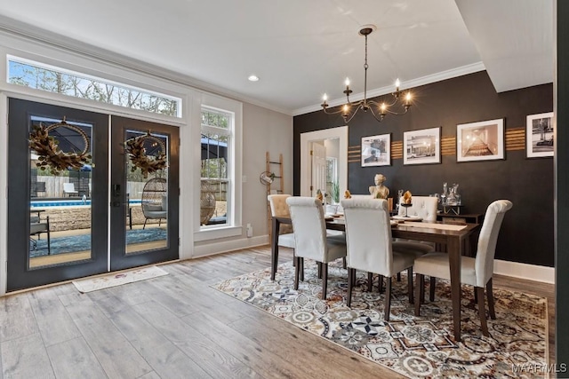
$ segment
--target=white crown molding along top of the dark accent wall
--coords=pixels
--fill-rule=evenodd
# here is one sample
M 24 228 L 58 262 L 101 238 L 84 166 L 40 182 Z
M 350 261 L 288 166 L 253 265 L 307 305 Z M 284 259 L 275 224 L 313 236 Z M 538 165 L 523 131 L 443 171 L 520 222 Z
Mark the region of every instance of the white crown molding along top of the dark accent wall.
M 420 85 L 441 82 L 441 81 L 444 81 L 446 79 L 452 79 L 454 77 L 458 77 L 458 76 L 462 76 L 462 75 L 477 73 L 479 71 L 484 71 L 485 69 L 486 68 L 484 66 L 484 63 L 477 62 L 477 63 L 473 63 L 471 65 L 456 67 L 456 68 L 452 68 L 450 70 L 442 71 L 442 72 L 437 73 L 437 74 L 422 76 L 422 77 L 417 78 L 417 79 L 409 80 L 407 82 L 402 82 L 400 85 L 400 88 L 419 87 Z M 378 88 L 378 89 L 375 89 L 372 91 L 367 91 L 367 99 L 372 99 L 372 98 L 375 98 L 378 96 L 387 95 L 391 92 L 393 92 L 393 85 L 381 87 L 381 88 Z M 351 99 L 351 101 L 358 101 L 358 100 L 364 99 L 364 92 L 359 92 L 355 95 L 352 94 L 349 96 L 349 98 Z M 345 103 L 346 103 L 345 98 L 328 100 L 328 105 L 330 108 L 343 106 Z M 315 105 L 309 106 L 309 107 L 294 109 L 293 115 L 308 114 L 310 112 L 321 111 L 321 110 L 322 110 L 322 107 L 320 106 L 320 104 L 315 104 Z

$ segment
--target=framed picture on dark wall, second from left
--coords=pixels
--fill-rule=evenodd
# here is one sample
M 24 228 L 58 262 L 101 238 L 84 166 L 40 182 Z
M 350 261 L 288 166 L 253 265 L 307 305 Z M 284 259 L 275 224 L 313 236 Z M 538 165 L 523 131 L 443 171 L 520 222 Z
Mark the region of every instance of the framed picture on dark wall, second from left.
M 441 162 L 441 128 L 403 133 L 403 164 Z

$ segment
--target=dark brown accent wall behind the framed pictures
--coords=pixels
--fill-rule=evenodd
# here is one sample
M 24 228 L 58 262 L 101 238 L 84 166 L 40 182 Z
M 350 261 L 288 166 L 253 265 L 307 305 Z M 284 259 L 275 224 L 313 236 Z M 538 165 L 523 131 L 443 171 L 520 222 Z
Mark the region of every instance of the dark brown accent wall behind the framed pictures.
M 525 128 L 528 114 L 553 111 L 553 84 L 496 93 L 485 71 L 431 83 L 413 89 L 413 107 L 404 116 L 387 116 L 376 122 L 362 111 L 349 123 L 349 146 L 361 138 L 391 133 L 391 141 L 403 141 L 404 131 L 441 127 L 441 136 L 455 137 L 456 125 L 504 118 L 505 130 Z M 300 193 L 301 133 L 337 127 L 340 115 L 322 111 L 294 117 L 294 186 Z M 525 158 L 525 150 L 505 151 L 505 160 L 456 162 L 443 155 L 440 164 L 361 167 L 349 163 L 349 190 L 367 193 L 373 176 L 385 175 L 385 185 L 397 196 L 398 189 L 416 195 L 442 192 L 443 182 L 458 183 L 463 212 L 484 213 L 488 204 L 509 199 L 514 207 L 506 215 L 496 249 L 496 258 L 532 265 L 553 266 L 553 159 Z M 345 188 L 341 188 L 341 193 Z

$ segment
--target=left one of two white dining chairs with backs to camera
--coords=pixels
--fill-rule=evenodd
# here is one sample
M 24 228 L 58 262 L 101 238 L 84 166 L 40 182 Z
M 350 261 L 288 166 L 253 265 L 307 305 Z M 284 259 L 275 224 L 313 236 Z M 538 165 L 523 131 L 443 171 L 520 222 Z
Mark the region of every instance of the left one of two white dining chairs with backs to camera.
M 326 298 L 328 264 L 346 257 L 346 242 L 343 238 L 328 237 L 322 203 L 314 197 L 291 196 L 286 199 L 296 249 L 294 249 L 294 289 L 299 288 L 299 275 L 304 271 L 304 258 L 317 261 L 322 273 L 322 298 Z

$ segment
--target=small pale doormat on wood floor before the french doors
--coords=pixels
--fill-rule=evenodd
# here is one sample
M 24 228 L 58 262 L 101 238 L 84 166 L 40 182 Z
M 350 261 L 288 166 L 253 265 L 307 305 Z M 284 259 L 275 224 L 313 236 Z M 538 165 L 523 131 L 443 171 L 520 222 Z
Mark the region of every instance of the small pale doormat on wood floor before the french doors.
M 85 293 L 122 286 L 123 284 L 133 283 L 135 281 L 157 278 L 167 274 L 168 272 L 165 272 L 160 267 L 148 266 L 131 271 L 109 273 L 108 275 L 98 276 L 96 278 L 73 280 L 73 284 L 79 292 Z

